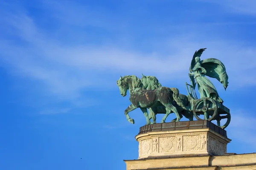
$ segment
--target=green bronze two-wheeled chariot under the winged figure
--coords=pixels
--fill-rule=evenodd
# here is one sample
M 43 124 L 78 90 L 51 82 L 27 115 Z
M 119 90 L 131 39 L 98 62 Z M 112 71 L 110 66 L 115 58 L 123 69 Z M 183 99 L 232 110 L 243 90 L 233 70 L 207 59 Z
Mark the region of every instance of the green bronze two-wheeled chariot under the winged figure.
M 217 125 L 223 129 L 230 124 L 231 116 L 229 108 L 209 97 L 198 99 L 192 85 L 186 83 L 186 89 L 189 99 L 189 106 L 187 109 L 193 113 L 193 116 L 195 116 L 197 120 L 216 120 Z M 199 117 L 200 115 L 204 115 L 204 119 L 201 119 Z M 223 123 L 221 121 L 223 121 Z M 221 124 L 223 125 L 221 126 Z

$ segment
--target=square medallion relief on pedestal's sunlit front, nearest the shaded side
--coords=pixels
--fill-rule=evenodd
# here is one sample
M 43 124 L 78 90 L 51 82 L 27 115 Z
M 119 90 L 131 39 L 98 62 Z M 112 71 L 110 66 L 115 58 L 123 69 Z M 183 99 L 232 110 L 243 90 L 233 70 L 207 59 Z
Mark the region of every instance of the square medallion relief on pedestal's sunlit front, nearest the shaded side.
M 192 151 L 200 149 L 200 136 L 183 136 L 183 151 Z

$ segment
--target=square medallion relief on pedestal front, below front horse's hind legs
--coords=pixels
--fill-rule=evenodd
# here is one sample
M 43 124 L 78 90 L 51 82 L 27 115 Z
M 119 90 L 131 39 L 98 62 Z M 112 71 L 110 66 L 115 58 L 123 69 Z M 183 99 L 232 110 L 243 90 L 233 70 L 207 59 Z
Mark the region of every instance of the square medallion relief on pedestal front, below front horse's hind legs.
M 175 152 L 175 147 L 176 147 L 175 136 L 159 138 L 160 153 Z

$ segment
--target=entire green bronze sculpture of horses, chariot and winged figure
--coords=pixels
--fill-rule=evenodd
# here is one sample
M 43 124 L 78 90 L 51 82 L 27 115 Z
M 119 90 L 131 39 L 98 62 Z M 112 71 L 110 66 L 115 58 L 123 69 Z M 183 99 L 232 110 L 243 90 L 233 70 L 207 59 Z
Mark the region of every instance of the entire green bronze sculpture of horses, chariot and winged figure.
M 209 121 L 216 120 L 217 125 L 221 128 L 226 128 L 230 123 L 230 111 L 222 103 L 223 100 L 219 97 L 218 92 L 212 82 L 206 77 L 212 77 L 222 83 L 226 90 L 228 86 L 228 76 L 224 64 L 218 59 L 201 60 L 201 54 L 206 48 L 201 48 L 195 51 L 192 57 L 189 68 L 189 78 L 192 85 L 186 83 L 188 95 L 179 94 L 177 88 L 162 87 L 156 77 L 144 76 L 137 78 L 136 76 L 120 77 L 117 80 L 117 85 L 122 96 L 126 96 L 127 91 L 130 91 L 131 105 L 125 110 L 127 120 L 134 123 L 128 115 L 130 111 L 140 108 L 146 118 L 146 125 L 156 123 L 156 114 L 163 113 L 161 122 L 165 122 L 166 117 L 170 113 L 175 113 L 178 122 L 180 118 L 185 116 L 190 121 L 193 116 L 197 120 L 202 120 L 199 115 L 204 115 L 204 119 Z M 200 99 L 195 93 L 195 86 L 198 86 Z M 149 115 L 147 108 L 149 109 Z M 220 122 L 227 119 L 224 125 Z

